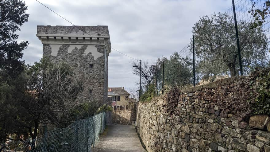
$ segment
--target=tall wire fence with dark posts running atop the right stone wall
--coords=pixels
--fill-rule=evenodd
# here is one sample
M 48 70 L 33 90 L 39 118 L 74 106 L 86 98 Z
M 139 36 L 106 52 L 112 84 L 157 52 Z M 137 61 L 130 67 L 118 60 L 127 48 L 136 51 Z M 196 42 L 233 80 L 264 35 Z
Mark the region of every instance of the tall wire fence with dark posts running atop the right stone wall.
M 254 17 L 249 12 L 252 9 L 263 10 L 266 7 L 264 2 L 265 0 L 237 0 L 223 13 L 213 12 L 211 15 L 201 16 L 192 27 L 187 45 L 170 58 L 163 57 L 156 61 L 153 83 L 157 94 L 174 86 L 180 89 L 189 88 L 221 78 L 238 76 L 241 75 L 241 71 L 243 75 L 249 75 L 257 67 L 268 67 L 269 15 L 266 16 L 262 27 L 251 28 Z

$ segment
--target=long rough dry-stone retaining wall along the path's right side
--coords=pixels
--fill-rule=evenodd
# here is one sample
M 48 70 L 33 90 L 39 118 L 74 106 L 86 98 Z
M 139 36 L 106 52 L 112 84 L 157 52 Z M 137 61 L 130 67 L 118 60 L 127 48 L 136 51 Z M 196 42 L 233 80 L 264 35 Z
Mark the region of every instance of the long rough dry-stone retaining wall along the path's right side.
M 249 88 L 252 79 L 240 76 L 175 89 L 139 103 L 137 129 L 147 150 L 270 152 L 269 117 L 252 116 L 247 102 L 255 92 Z

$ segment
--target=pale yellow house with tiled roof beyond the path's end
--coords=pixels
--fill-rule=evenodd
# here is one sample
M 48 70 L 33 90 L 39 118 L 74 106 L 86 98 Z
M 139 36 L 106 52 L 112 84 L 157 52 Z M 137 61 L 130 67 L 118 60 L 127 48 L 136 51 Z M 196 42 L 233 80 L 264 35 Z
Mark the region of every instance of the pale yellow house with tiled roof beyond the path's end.
M 131 110 L 134 106 L 136 108 L 136 100 L 130 98 L 130 93 L 124 87 L 108 87 L 108 102 L 111 102 L 113 110 Z

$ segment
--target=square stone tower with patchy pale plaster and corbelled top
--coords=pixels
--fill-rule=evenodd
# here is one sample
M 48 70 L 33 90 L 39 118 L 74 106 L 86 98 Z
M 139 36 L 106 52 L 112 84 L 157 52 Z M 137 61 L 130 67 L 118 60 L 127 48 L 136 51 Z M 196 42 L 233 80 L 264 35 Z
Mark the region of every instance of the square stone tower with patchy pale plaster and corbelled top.
M 52 63 L 64 61 L 84 83 L 85 102 L 107 103 L 108 56 L 111 52 L 108 26 L 37 26 L 43 57 Z

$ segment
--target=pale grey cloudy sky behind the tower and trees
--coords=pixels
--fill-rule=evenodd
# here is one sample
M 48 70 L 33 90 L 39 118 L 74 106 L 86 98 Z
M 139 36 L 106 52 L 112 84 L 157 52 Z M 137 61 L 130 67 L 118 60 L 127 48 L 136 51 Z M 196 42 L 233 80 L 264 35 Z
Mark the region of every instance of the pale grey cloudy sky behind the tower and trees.
M 108 25 L 111 47 L 142 61 L 154 62 L 181 50 L 192 37 L 191 27 L 200 16 L 224 13 L 231 0 L 39 0 L 75 25 Z M 26 64 L 42 57 L 37 25 L 71 25 L 35 0 L 25 0 L 29 21 L 21 27 L 19 41 L 29 41 Z M 131 59 L 112 50 L 109 87 L 134 88 Z

